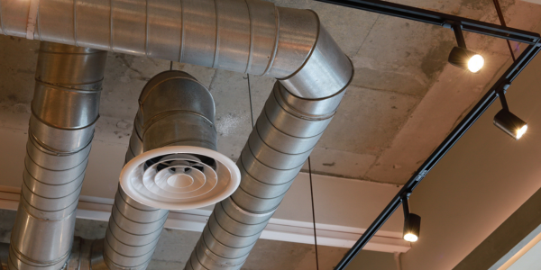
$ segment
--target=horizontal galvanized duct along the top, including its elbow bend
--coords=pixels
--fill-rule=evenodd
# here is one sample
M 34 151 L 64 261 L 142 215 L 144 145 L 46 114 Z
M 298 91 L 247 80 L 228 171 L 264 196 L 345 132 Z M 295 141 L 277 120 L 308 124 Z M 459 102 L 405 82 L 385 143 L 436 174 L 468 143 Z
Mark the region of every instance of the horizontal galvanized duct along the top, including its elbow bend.
M 352 77 L 317 14 L 261 0 L 0 0 L 0 32 L 282 80 L 303 98 Z

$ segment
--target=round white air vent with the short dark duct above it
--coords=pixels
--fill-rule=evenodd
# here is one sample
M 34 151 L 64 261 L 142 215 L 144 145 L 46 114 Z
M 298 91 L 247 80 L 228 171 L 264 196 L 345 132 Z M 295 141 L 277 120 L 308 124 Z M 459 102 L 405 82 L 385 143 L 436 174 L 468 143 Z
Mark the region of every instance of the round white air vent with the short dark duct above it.
M 240 173 L 216 151 L 215 103 L 204 85 L 184 72 L 166 71 L 144 87 L 139 105 L 126 158 L 143 153 L 121 173 L 127 195 L 154 208 L 186 210 L 236 190 Z

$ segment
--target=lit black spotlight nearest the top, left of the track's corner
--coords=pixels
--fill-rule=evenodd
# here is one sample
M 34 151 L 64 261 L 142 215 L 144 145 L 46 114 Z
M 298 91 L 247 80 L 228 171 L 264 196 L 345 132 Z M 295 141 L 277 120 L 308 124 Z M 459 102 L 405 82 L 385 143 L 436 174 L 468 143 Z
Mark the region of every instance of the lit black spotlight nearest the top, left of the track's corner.
M 466 49 L 462 24 L 449 23 L 448 27 L 453 29 L 456 43 L 458 43 L 458 47 L 454 47 L 449 54 L 449 63 L 455 67 L 470 70 L 472 73 L 478 73 L 484 66 L 484 58 L 480 54 Z

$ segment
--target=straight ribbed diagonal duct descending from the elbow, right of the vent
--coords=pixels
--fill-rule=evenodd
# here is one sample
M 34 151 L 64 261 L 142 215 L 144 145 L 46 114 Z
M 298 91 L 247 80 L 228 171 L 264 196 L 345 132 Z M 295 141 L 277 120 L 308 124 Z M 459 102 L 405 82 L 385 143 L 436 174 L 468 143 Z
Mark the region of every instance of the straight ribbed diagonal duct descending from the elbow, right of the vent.
M 241 185 L 215 205 L 185 269 L 240 269 L 317 140 L 344 89 L 325 99 L 290 94 L 277 82 L 237 166 Z

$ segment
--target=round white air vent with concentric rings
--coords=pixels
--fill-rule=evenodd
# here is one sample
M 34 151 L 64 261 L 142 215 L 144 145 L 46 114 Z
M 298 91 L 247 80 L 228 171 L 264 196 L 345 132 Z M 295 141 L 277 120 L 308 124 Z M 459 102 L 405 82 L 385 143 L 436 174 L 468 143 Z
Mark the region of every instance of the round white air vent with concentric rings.
M 224 155 L 190 146 L 156 148 L 128 162 L 121 174 L 124 192 L 142 204 L 169 210 L 221 202 L 241 182 L 239 168 Z

